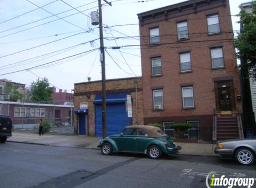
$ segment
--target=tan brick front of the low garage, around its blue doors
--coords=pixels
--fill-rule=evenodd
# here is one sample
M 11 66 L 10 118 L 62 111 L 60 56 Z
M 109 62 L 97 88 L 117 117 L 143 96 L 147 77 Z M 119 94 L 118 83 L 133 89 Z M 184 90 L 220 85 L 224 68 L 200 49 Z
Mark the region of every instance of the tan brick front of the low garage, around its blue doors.
M 137 82 L 137 116 L 136 116 L 136 90 L 135 82 Z M 132 124 L 138 122 L 143 125 L 143 92 L 142 92 L 142 80 L 141 78 L 122 78 L 112 79 L 106 81 L 106 93 L 125 93 L 130 92 L 132 98 Z M 96 98 L 96 94 L 102 94 L 101 81 L 95 82 L 82 82 L 75 84 L 75 109 L 80 108 L 80 102 L 88 102 L 88 116 L 89 116 L 89 130 L 88 134 L 95 136 L 95 105 L 93 101 Z M 118 118 L 118 117 L 117 117 Z M 77 115 L 75 115 L 75 131 L 77 132 Z

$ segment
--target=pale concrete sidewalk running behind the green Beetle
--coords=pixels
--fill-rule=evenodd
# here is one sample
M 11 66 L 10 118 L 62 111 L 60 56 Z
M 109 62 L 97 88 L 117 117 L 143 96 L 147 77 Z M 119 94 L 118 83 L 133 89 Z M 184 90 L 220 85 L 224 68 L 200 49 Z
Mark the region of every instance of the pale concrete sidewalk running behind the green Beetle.
M 99 149 L 97 145 L 101 138 L 83 135 L 42 135 L 17 133 L 7 139 L 7 142 L 31 143 L 49 146 L 74 147 Z M 210 143 L 176 143 L 182 147 L 180 154 L 201 155 L 201 156 L 220 156 L 214 153 L 215 144 Z

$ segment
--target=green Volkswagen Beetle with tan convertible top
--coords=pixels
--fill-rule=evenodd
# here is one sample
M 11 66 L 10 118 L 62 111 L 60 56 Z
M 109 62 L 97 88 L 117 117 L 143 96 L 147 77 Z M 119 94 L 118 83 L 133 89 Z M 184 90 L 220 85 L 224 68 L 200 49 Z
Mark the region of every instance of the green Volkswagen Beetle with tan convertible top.
M 176 154 L 181 149 L 159 127 L 145 125 L 127 126 L 121 134 L 100 140 L 97 147 L 103 155 L 132 152 L 144 153 L 151 159 L 158 159 L 162 154 Z

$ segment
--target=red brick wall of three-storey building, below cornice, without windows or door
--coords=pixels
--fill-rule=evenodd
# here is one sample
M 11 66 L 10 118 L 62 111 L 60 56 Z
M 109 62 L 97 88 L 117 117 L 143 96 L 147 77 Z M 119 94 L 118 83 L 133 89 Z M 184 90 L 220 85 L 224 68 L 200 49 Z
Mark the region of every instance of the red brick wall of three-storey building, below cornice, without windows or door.
M 222 33 L 210 36 L 207 33 L 206 15 L 212 13 L 218 13 Z M 156 12 L 155 15 L 157 15 Z M 160 44 L 169 43 L 168 45 L 141 47 L 145 119 L 155 117 L 158 118 L 160 123 L 161 117 L 188 116 L 193 118 L 195 115 L 213 114 L 214 108 L 216 108 L 214 79 L 223 78 L 225 80 L 225 78 L 231 78 L 234 83 L 234 96 L 240 95 L 235 49 L 233 42 L 230 40 L 233 39 L 230 15 L 229 2 L 226 0 L 225 6 L 175 16 L 168 20 L 158 21 L 155 16 L 148 21 L 149 24 L 141 22 L 141 45 L 150 43 L 149 28 L 156 26 L 159 27 Z M 188 40 L 178 41 L 178 20 L 188 21 Z M 225 39 L 229 39 L 229 41 L 225 41 Z M 215 46 L 222 46 L 225 63 L 223 69 L 212 69 L 210 48 Z M 189 50 L 191 54 L 192 72 L 180 73 L 179 53 L 185 50 Z M 158 77 L 153 77 L 151 74 L 151 57 L 155 56 L 161 56 L 162 58 L 162 76 Z M 181 85 L 187 83 L 193 85 L 195 108 L 190 110 L 182 108 Z M 152 88 L 157 87 L 163 88 L 164 110 L 161 111 L 152 110 Z M 235 100 L 235 105 L 242 109 L 240 101 Z

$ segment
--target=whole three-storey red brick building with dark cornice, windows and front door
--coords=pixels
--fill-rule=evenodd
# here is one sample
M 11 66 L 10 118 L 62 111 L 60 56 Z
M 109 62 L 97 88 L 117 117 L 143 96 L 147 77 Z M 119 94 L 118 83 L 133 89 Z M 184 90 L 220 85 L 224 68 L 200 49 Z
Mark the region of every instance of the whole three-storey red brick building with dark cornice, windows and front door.
M 228 0 L 189 0 L 138 14 L 145 124 L 191 123 L 201 140 L 239 137 L 230 15 Z M 222 117 L 214 119 L 214 111 Z M 232 128 L 224 120 L 234 121 Z

